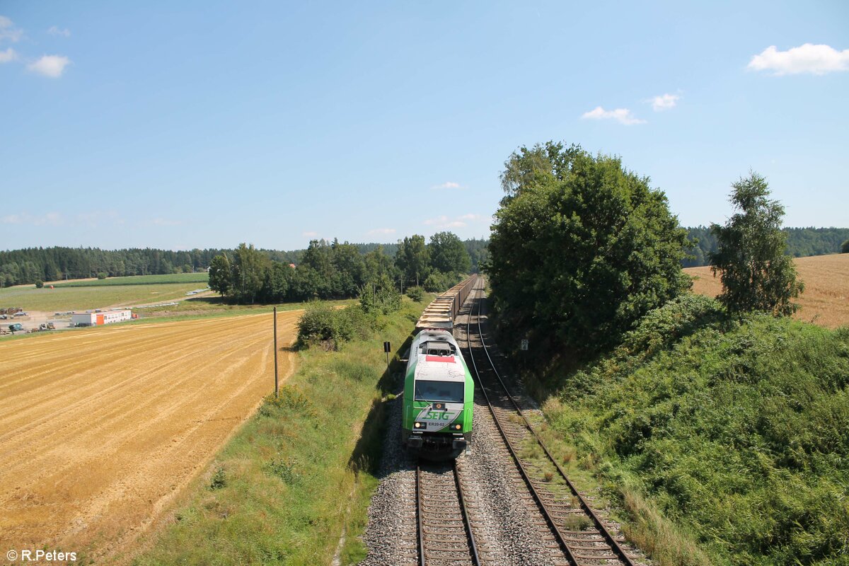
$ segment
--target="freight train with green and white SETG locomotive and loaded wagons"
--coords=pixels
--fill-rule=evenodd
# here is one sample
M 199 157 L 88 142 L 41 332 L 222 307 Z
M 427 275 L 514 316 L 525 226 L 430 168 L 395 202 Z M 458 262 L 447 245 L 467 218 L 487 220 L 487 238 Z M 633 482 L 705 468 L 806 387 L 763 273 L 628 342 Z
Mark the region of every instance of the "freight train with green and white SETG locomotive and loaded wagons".
M 450 460 L 469 449 L 475 384 L 452 335 L 476 277 L 441 294 L 416 324 L 404 377 L 402 445 L 413 456 Z

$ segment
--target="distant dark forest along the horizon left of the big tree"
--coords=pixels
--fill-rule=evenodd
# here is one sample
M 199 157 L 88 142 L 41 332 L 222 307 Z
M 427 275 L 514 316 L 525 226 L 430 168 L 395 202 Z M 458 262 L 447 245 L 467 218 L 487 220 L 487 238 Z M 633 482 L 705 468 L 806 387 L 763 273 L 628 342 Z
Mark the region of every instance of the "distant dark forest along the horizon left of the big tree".
M 464 243 L 471 259 L 472 272 L 486 258 L 488 240 L 470 239 Z M 366 255 L 379 246 L 384 253 L 395 257 L 398 244 L 353 244 L 360 254 Z M 281 263 L 301 262 L 306 250 L 278 251 L 261 249 L 270 260 Z M 108 277 L 126 275 L 162 275 L 167 273 L 190 273 L 206 271 L 212 258 L 222 253 L 233 255 L 234 249 L 192 249 L 171 251 L 167 249 L 98 249 L 98 248 L 26 248 L 0 251 L 0 287 L 97 277 L 105 273 Z

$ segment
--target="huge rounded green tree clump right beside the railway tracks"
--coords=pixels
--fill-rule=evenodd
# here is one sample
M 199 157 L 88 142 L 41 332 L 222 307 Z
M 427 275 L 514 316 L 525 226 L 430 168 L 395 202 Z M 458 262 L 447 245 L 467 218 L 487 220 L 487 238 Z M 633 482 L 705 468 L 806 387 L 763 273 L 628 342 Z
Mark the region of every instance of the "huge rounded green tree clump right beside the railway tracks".
M 506 167 L 487 271 L 514 332 L 592 356 L 688 288 L 685 232 L 647 177 L 559 143 L 522 148 Z

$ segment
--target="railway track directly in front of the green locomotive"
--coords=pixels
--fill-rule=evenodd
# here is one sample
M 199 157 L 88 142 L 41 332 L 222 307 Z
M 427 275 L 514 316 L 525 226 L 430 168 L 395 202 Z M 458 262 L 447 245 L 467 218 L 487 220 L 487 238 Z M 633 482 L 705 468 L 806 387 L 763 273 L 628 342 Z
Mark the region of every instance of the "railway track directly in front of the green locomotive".
M 480 566 L 456 462 L 416 466 L 419 566 Z

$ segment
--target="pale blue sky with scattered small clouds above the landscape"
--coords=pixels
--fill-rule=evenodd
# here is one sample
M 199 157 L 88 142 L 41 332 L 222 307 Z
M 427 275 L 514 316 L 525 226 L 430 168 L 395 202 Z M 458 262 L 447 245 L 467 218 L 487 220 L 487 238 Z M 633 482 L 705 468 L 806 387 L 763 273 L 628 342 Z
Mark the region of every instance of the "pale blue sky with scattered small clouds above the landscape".
M 174 4 L 0 2 L 0 249 L 486 237 L 548 139 L 849 227 L 849 3 Z

